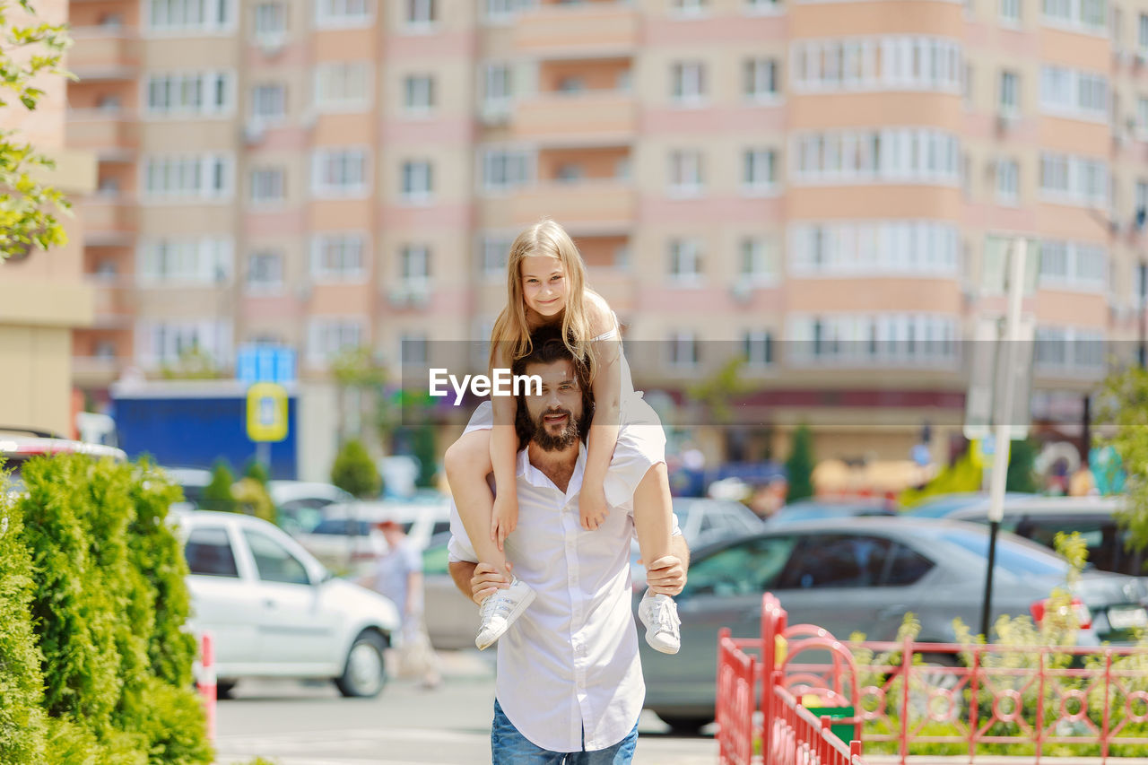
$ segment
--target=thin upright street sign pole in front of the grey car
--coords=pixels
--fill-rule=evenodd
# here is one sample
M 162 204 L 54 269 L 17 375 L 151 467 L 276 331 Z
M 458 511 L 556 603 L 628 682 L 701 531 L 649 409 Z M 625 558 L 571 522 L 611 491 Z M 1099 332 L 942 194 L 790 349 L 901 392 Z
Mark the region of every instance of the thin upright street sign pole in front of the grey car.
M 1016 393 L 1016 342 L 1021 326 L 1021 303 L 1024 299 L 1024 270 L 1027 240 L 1021 238 L 1013 244 L 1009 260 L 1008 314 L 1004 318 L 1004 391 L 1001 405 L 996 409 L 996 433 L 994 435 L 993 474 L 988 486 L 988 570 L 985 572 L 985 597 L 980 609 L 980 634 L 988 641 L 988 619 L 993 609 L 993 570 L 996 566 L 996 535 L 1001 518 L 1004 517 L 1004 479 L 1008 477 L 1009 435 L 1013 426 L 1013 399 Z

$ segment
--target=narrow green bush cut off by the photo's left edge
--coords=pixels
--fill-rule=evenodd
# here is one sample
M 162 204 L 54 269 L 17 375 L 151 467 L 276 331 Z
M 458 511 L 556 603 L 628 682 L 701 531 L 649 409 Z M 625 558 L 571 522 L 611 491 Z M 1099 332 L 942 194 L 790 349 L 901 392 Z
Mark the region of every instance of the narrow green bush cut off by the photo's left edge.
M 29 613 L 32 561 L 22 521 L 20 509 L 0 499 L 0 763 L 45 762 L 42 657 Z

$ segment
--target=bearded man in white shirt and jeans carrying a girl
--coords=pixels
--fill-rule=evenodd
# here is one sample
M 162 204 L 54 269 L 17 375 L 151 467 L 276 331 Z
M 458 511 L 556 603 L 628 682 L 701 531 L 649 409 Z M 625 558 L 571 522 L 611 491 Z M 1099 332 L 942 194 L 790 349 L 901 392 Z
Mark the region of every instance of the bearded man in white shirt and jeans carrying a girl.
M 611 504 L 599 528 L 584 531 L 579 490 L 594 411 L 585 368 L 557 332 L 540 330 L 533 348 L 512 369 L 538 376 L 542 393 L 518 402 L 520 510 L 506 557 L 536 597 L 498 641 L 492 763 L 621 765 L 634 757 L 645 697 L 630 613 L 634 488 L 666 464 L 611 468 L 606 480 L 625 481 L 629 499 Z M 451 533 L 450 573 L 464 595 L 478 603 L 512 586 L 509 571 L 475 563 L 457 511 Z M 673 555 L 649 567 L 650 590 L 677 595 L 688 559 L 675 527 Z

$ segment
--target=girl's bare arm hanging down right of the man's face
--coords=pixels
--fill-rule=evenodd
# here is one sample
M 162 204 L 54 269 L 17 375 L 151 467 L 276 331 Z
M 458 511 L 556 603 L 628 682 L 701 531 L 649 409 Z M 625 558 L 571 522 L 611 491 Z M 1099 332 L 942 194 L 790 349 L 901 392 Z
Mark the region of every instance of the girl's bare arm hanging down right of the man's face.
M 610 317 L 613 322 L 613 316 Z M 621 339 L 596 340 L 592 348 L 598 360 L 594 378 L 594 419 L 587 439 L 585 473 L 579 497 L 582 527 L 597 528 L 606 518 L 606 493 L 603 484 L 618 443 L 621 403 Z

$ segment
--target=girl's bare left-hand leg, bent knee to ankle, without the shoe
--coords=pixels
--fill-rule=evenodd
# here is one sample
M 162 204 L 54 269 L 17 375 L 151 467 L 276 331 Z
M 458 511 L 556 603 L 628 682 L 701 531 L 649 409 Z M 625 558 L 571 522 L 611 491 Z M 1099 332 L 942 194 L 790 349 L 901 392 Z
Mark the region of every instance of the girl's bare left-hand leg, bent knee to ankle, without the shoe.
M 466 535 L 480 563 L 506 570 L 506 554 L 490 540 L 490 515 L 495 504 L 487 476 L 490 464 L 490 431 L 471 431 L 455 441 L 443 456 L 447 481 L 463 520 Z

